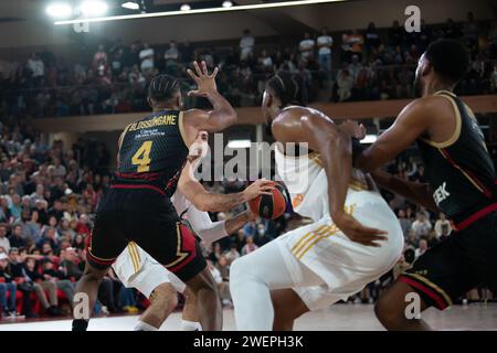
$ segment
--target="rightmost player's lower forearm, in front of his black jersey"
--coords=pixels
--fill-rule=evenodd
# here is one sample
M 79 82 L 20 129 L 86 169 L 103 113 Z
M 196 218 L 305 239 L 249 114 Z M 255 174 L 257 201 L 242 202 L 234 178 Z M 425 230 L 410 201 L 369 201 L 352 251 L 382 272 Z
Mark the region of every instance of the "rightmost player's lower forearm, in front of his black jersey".
M 394 176 L 382 170 L 371 172 L 374 182 L 390 192 L 399 194 L 416 204 L 425 206 L 433 212 L 440 212 L 433 200 L 433 192 L 427 183 L 416 183 Z

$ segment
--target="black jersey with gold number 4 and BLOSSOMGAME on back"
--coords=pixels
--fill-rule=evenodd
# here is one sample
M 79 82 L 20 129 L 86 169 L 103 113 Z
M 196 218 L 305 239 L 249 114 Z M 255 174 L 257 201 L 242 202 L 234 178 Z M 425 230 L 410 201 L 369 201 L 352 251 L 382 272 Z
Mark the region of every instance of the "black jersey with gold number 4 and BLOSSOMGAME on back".
M 182 111 L 161 110 L 128 125 L 118 153 L 117 183 L 150 184 L 171 196 L 188 157 Z

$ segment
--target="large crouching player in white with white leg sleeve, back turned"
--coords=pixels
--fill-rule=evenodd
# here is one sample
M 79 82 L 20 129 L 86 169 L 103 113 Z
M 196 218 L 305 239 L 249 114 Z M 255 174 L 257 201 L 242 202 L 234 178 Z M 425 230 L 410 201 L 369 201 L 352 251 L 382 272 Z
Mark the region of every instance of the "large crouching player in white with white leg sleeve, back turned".
M 287 72 L 272 77 L 262 108 L 276 141 L 308 143 L 310 151 L 298 158 L 276 149 L 275 160 L 295 212 L 314 223 L 232 264 L 239 330 L 273 328 L 272 290 L 276 310 L 295 319 L 360 291 L 402 254 L 399 221 L 367 176 L 351 168 L 350 138 L 322 113 L 293 105 L 300 95 L 297 79 Z

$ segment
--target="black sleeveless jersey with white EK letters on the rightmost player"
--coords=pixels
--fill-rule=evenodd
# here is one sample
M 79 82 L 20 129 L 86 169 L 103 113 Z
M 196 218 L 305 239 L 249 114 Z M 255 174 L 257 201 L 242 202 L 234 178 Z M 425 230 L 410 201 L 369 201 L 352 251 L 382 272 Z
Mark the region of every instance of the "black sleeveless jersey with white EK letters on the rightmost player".
M 497 202 L 496 172 L 469 107 L 451 92 L 436 95 L 452 103 L 455 132 L 442 143 L 420 138 L 417 146 L 435 203 L 447 217 L 461 222 Z

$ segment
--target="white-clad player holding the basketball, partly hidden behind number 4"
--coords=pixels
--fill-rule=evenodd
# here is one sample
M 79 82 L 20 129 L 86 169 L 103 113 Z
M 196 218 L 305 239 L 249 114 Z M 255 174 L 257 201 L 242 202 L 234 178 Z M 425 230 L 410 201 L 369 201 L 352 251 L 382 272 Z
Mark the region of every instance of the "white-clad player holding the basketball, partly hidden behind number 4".
M 208 192 L 193 176 L 193 171 L 201 158 L 207 154 L 208 148 L 208 133 L 200 131 L 197 141 L 190 147 L 187 165 L 181 172 L 178 190 L 171 200 L 181 220 L 187 221 L 193 232 L 207 244 L 211 244 L 235 233 L 255 216 L 248 210 L 231 220 L 212 222 L 209 214 L 200 210 L 229 211 L 241 204 L 243 200 L 264 194 L 264 190 L 266 190 L 264 185 L 271 182 L 258 180 L 242 192 L 244 195 Z M 177 291 L 186 297 L 182 330 L 200 331 L 202 329 L 198 322 L 195 296 L 186 287 L 184 282 L 157 263 L 136 243 L 130 243 L 126 247 L 113 264 L 113 268 L 126 287 L 136 288 L 150 299 L 150 306 L 140 317 L 135 330 L 158 330 L 177 306 Z

